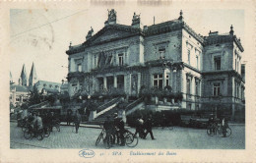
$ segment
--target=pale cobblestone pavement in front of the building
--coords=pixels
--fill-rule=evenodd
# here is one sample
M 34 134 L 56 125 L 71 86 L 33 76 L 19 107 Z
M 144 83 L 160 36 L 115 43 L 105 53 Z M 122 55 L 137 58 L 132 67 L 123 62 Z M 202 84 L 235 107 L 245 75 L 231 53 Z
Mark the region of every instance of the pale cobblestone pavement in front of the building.
M 103 142 L 96 146 L 96 138 L 100 129 L 80 128 L 79 134 L 72 132 L 71 126 L 61 126 L 61 131 L 53 131 L 49 137 L 39 141 L 36 138 L 25 139 L 22 129 L 17 123 L 10 123 L 10 147 L 11 148 L 91 148 L 103 149 Z M 153 134 L 157 138 L 152 140 L 139 139 L 134 149 L 244 149 L 245 127 L 244 125 L 230 126 L 232 135 L 229 137 L 208 136 L 206 130 L 175 127 L 172 131 L 167 129 L 154 129 Z M 129 129 L 135 132 L 134 129 Z M 113 149 L 129 149 L 128 146 L 114 145 Z

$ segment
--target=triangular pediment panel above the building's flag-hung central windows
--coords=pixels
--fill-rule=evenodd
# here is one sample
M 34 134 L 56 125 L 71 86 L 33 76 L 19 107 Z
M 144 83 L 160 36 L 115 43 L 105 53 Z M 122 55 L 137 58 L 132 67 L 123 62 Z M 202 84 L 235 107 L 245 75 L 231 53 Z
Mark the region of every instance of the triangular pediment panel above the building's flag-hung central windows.
M 96 43 L 100 43 L 100 42 L 111 41 L 114 39 L 129 36 L 132 34 L 134 34 L 134 33 L 130 32 L 130 31 L 122 31 L 122 30 L 118 30 L 118 29 L 114 29 L 114 28 L 108 28 L 108 29 L 104 30 L 102 33 L 96 34 L 95 36 L 93 36 L 91 38 L 92 39 L 91 43 L 96 44 Z

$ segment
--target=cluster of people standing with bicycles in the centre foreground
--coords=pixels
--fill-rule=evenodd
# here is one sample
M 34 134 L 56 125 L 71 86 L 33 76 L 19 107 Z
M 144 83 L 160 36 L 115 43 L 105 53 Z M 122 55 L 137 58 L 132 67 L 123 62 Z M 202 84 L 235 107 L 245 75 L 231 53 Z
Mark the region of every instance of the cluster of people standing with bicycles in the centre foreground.
M 106 137 L 113 136 L 113 143 L 119 144 L 124 146 L 125 145 L 125 129 L 124 129 L 124 122 L 122 118 L 118 118 L 117 114 L 114 114 L 113 120 L 110 118 L 110 116 L 107 116 L 106 121 L 103 124 L 103 128 L 106 132 Z

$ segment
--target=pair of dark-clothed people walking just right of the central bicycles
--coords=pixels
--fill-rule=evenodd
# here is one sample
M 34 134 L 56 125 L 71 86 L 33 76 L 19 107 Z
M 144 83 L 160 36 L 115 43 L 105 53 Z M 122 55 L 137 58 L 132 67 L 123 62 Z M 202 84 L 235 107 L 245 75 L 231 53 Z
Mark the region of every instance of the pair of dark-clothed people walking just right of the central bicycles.
M 152 120 L 152 115 L 150 114 L 149 117 L 144 121 L 143 117 L 140 116 L 137 119 L 136 122 L 136 132 L 135 135 L 139 134 L 141 138 L 146 139 L 148 134 L 151 135 L 152 139 L 156 139 L 152 133 L 152 127 L 153 127 L 153 120 Z M 146 131 L 146 132 L 145 132 Z

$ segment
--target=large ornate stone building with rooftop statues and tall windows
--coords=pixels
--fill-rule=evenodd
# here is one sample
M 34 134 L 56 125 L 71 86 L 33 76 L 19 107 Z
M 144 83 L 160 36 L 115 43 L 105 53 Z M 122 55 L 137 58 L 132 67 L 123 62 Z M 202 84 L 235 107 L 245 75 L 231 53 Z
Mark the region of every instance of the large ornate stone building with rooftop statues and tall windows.
M 141 26 L 134 13 L 131 26 L 116 24 L 108 12 L 104 27 L 92 28 L 82 44 L 69 46 L 69 93 L 89 94 L 116 87 L 138 95 L 146 87 L 166 85 L 182 92 L 180 108 L 200 109 L 223 103 L 232 111 L 244 106 L 241 58 L 244 51 L 233 27 L 226 34 L 197 34 L 179 18 Z

